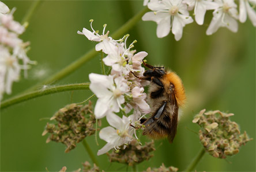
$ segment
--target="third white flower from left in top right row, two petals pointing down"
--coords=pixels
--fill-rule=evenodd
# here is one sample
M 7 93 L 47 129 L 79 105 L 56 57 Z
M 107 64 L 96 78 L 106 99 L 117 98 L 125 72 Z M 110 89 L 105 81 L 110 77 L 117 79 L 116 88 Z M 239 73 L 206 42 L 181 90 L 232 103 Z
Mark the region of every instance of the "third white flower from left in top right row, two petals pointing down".
M 216 32 L 220 27 L 226 27 L 232 32 L 238 32 L 238 10 L 234 0 L 216 0 L 219 4 L 219 8 L 213 11 L 213 18 L 210 22 L 207 35 L 211 35 Z

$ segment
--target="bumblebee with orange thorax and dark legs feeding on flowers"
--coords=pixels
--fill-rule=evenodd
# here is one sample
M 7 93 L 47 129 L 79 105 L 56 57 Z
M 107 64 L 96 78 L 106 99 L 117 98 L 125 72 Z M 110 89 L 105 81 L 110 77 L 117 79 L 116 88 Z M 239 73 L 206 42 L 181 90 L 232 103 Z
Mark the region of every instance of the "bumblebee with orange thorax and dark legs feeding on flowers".
M 172 143 L 178 126 L 179 107 L 185 104 L 186 95 L 182 80 L 175 72 L 165 71 L 163 67 L 153 67 L 143 61 L 149 70 L 143 73 L 141 80 L 150 81 L 148 103 L 151 116 L 144 119 L 142 135 L 153 139 L 168 138 Z

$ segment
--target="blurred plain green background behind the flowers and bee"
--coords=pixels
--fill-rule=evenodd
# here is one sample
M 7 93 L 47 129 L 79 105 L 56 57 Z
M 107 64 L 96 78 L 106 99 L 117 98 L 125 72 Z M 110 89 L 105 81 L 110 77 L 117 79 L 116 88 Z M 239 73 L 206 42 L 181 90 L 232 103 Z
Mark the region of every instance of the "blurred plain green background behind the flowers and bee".
M 10 9 L 17 7 L 14 18 L 21 21 L 33 1 L 3 2 Z M 5 99 L 60 71 L 94 48 L 95 42 L 77 34 L 77 30 L 89 29 L 89 19 L 94 19 L 94 29 L 101 32 L 103 24 L 108 24 L 107 30 L 114 33 L 142 8 L 142 1 L 43 1 L 21 37 L 31 42 L 28 56 L 38 64 L 29 70 L 28 79 L 14 83 L 12 95 L 5 95 Z M 231 120 L 254 140 L 227 161 L 205 154 L 196 170 L 255 171 L 255 28 L 247 19 L 245 24 L 239 23 L 238 33 L 221 28 L 206 36 L 211 18 L 212 11 L 208 11 L 203 26 L 195 22 L 186 25 L 178 42 L 172 34 L 157 38 L 155 22 L 140 21 L 128 32 L 129 42 L 138 41 L 137 52 L 148 52 L 149 64 L 165 65 L 178 73 L 187 93 L 187 105 L 174 143 L 157 140 L 155 156 L 138 165 L 140 171 L 149 166 L 159 167 L 161 163 L 184 170 L 202 147 L 198 136 L 190 130 L 199 130 L 191 120 L 203 108 L 234 113 Z M 100 73 L 100 56 L 57 84 L 89 81 L 88 74 L 92 72 Z M 40 120 L 91 95 L 91 91 L 55 93 L 2 110 L 1 171 L 46 171 L 46 167 L 49 171 L 59 171 L 63 166 L 72 171 L 81 168 L 82 162 L 92 162 L 81 143 L 70 153 L 64 153 L 65 145 L 61 143 L 46 144 L 47 136 L 42 136 L 42 132 L 48 120 Z M 92 100 L 96 102 L 95 98 Z M 95 136 L 86 140 L 95 155 L 106 143 L 98 139 L 97 146 Z M 142 140 L 148 139 L 142 136 Z M 126 171 L 126 165 L 110 165 L 106 155 L 97 159 L 105 171 Z

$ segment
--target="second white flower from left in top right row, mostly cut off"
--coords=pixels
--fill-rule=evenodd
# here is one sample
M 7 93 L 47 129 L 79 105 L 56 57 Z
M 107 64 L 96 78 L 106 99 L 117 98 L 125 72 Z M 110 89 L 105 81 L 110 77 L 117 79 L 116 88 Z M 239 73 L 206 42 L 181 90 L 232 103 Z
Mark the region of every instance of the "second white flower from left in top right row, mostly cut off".
M 219 7 L 212 0 L 184 0 L 189 5 L 189 9 L 194 9 L 195 21 L 198 25 L 204 24 L 206 10 L 214 10 Z

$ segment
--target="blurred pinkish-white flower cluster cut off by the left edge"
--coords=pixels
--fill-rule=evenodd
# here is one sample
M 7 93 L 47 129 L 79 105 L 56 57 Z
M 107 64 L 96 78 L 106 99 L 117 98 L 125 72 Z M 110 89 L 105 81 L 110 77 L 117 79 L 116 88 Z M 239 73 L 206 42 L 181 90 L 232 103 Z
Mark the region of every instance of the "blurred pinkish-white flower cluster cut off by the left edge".
M 21 69 L 27 76 L 28 64 L 34 63 L 26 54 L 29 43 L 18 38 L 25 28 L 13 20 L 14 10 L 9 11 L 0 2 L 0 101 L 3 93 L 12 93 L 12 84 L 19 80 Z

